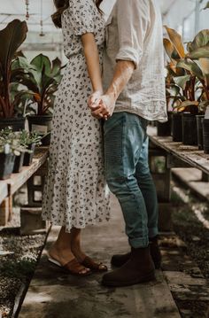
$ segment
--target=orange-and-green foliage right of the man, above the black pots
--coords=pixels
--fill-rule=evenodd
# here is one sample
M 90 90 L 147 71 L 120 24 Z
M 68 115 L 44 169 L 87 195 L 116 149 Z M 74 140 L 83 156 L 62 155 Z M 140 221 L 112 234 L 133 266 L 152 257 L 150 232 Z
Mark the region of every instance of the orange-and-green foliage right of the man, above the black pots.
M 184 49 L 182 36 L 166 27 L 169 39 L 164 39 L 170 58 L 172 84 L 180 89 L 179 111 L 204 112 L 209 100 L 209 30 L 200 31 Z

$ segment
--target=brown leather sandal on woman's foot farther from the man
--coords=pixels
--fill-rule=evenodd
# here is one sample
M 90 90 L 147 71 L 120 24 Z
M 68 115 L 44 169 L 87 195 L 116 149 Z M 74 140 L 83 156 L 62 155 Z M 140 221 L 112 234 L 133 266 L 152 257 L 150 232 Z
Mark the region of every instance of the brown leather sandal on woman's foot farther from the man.
M 57 265 L 59 268 L 64 269 L 67 273 L 71 275 L 76 275 L 76 276 L 87 276 L 91 274 L 91 271 L 89 268 L 86 268 L 82 264 L 78 262 L 78 260 L 73 259 L 70 260 L 66 265 L 61 265 L 58 260 L 54 260 L 51 257 L 48 258 L 50 263 Z M 85 272 L 83 272 L 85 270 Z

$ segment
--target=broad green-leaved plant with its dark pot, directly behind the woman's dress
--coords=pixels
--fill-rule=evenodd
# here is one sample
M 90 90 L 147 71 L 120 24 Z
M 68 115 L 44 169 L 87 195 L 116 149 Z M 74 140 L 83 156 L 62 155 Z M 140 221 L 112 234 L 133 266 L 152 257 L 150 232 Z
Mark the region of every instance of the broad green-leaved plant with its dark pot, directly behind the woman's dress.
M 39 54 L 30 64 L 23 57 L 19 57 L 17 63 L 26 70 L 25 74 L 19 74 L 19 82 L 27 86 L 31 100 L 37 105 L 36 113 L 27 115 L 29 130 L 42 134 L 43 144 L 49 144 L 55 92 L 61 81 L 61 61 L 56 58 L 50 62 L 48 57 Z

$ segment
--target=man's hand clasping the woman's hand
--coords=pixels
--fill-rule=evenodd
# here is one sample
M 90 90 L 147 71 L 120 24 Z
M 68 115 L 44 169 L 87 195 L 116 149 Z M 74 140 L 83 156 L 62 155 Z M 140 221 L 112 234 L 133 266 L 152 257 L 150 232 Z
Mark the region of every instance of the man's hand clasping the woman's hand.
M 107 120 L 109 117 L 112 116 L 115 106 L 115 99 L 112 95 L 105 94 L 100 97 L 99 104 L 95 107 L 94 105 L 89 105 L 91 109 L 91 114 L 93 117 L 100 119 L 104 118 Z

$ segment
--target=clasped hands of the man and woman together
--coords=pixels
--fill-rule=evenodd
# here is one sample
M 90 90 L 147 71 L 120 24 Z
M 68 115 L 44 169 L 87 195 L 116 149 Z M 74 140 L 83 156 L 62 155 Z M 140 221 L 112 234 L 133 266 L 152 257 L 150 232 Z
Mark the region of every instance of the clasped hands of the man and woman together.
M 107 120 L 112 116 L 115 100 L 109 94 L 100 95 L 98 97 L 97 92 L 95 92 L 89 97 L 88 106 L 93 117 Z

